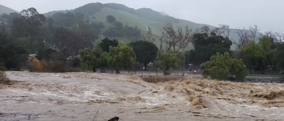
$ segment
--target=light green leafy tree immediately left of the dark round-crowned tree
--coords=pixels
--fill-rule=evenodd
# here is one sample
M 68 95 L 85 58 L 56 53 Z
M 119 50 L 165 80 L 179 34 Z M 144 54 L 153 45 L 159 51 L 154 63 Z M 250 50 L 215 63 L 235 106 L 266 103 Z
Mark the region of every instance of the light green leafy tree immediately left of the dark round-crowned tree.
M 110 46 L 108 65 L 116 69 L 132 68 L 135 64 L 136 56 L 133 49 L 129 46 L 112 47 Z

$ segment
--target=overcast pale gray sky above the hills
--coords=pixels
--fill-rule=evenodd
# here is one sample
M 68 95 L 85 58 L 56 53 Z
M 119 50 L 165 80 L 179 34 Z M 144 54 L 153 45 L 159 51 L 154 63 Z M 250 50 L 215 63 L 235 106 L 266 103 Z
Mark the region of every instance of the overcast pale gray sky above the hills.
M 90 2 L 121 3 L 135 9 L 147 7 L 170 16 L 231 28 L 258 25 L 261 31 L 284 32 L 284 0 L 0 0 L 21 11 L 35 7 L 40 13 L 74 9 Z

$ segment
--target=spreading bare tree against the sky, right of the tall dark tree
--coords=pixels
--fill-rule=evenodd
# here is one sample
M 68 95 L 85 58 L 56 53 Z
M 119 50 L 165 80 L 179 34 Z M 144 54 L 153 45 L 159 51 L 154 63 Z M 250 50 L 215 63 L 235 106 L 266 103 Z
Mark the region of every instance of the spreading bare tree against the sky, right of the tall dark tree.
M 244 48 L 245 45 L 251 40 L 254 40 L 259 32 L 259 28 L 257 25 L 250 26 L 249 30 L 245 27 L 243 29 L 236 28 L 237 32 L 235 32 L 239 37 L 239 42 L 234 41 L 233 43 L 238 46 L 238 48 Z

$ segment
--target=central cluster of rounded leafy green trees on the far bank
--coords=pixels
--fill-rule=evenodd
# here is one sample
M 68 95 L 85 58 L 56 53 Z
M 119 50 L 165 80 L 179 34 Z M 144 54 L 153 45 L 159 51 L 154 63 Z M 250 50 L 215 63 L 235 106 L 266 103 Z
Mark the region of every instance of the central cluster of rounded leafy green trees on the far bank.
M 119 73 L 119 69 L 133 68 L 135 62 L 143 63 L 145 68 L 149 62 L 153 62 L 164 75 L 169 75 L 170 69 L 178 69 L 182 65 L 181 53 L 158 51 L 156 45 L 151 42 L 140 40 L 118 46 L 116 41 L 105 38 L 93 50 L 90 48 L 80 50 L 84 68 L 92 68 L 95 72 L 97 68 L 110 67 Z M 102 48 L 107 45 L 110 45 L 109 49 L 103 50 Z

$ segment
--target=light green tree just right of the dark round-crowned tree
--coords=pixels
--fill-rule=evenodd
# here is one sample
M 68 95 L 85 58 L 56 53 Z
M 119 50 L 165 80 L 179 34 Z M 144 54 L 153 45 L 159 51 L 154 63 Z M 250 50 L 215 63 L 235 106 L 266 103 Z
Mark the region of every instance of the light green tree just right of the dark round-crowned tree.
M 154 61 L 154 65 L 163 71 L 164 75 L 169 75 L 170 69 L 177 69 L 181 66 L 182 60 L 181 57 L 170 51 L 161 52 L 160 50 L 157 52 L 156 60 Z

